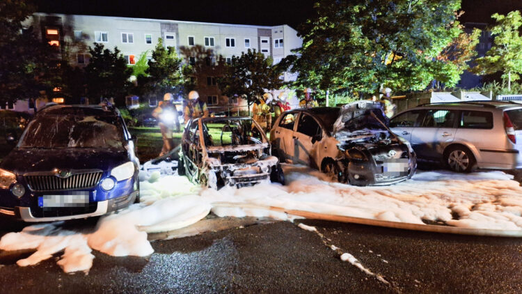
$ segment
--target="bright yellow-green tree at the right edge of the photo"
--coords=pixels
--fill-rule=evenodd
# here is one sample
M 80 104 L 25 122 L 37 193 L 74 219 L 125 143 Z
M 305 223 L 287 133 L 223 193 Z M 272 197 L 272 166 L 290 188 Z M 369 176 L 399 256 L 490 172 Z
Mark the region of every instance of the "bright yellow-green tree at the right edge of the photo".
M 518 80 L 522 73 L 522 17 L 518 10 L 507 15 L 495 13 L 491 17 L 496 20 L 495 26 L 490 30 L 494 36 L 493 46 L 486 52 L 486 56 L 476 59 L 474 71 L 479 75 L 503 72 L 502 78 L 507 79 L 507 88 L 510 91 L 511 82 Z

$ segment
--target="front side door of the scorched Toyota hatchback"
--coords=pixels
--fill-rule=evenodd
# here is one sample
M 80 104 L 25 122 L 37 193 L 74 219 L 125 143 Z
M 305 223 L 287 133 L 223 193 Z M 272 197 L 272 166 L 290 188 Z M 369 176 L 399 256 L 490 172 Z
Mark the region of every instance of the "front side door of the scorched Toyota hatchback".
M 294 139 L 294 164 L 306 164 L 308 166 L 315 161 L 315 150 L 317 150 L 318 142 L 321 141 L 323 131 L 317 120 L 301 112 L 296 130 L 292 139 Z

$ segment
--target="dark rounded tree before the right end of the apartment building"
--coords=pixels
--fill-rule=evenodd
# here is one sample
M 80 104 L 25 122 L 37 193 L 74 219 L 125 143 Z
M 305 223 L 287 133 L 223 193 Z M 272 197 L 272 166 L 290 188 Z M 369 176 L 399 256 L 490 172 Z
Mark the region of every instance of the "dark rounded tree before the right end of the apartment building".
M 266 91 L 283 86 L 279 78 L 282 72 L 272 66 L 272 59 L 265 58 L 261 52 L 248 49 L 246 54 L 232 56 L 232 62 L 226 66 L 225 75 L 219 79 L 219 88 L 223 95 L 246 96 L 248 106 Z

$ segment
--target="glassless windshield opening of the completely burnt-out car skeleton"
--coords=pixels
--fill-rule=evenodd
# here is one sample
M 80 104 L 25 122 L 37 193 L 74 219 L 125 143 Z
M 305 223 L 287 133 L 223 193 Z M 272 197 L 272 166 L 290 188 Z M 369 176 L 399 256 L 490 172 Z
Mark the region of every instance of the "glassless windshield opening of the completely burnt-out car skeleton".
M 249 118 L 216 118 L 204 120 L 205 146 L 237 146 L 262 144 L 262 130 Z

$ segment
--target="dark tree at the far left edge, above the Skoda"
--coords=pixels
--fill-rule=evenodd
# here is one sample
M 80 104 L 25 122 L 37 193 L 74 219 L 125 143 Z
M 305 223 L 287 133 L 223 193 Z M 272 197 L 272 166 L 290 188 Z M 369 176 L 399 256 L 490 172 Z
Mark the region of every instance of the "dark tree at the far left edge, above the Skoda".
M 52 49 L 22 22 L 33 14 L 31 1 L 0 1 L 0 107 L 21 98 L 37 98 L 42 75 L 52 68 Z

